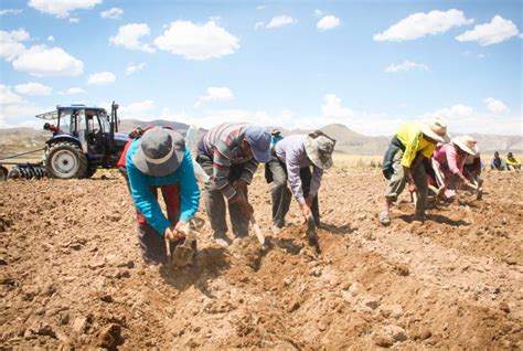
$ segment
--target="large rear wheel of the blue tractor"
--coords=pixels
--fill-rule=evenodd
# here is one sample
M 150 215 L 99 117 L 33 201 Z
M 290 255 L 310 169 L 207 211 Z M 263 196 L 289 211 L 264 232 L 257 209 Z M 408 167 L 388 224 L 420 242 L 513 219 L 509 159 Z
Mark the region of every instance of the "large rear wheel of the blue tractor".
M 84 178 L 87 158 L 74 143 L 62 141 L 52 145 L 45 152 L 45 168 L 52 178 Z

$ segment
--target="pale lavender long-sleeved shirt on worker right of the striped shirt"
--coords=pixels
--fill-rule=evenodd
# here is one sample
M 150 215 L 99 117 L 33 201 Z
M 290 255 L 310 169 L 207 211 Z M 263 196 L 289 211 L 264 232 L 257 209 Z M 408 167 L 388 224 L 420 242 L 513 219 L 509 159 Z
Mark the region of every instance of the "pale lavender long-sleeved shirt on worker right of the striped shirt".
M 292 190 L 292 194 L 300 204 L 306 202 L 303 189 L 300 179 L 300 169 L 306 167 L 313 167 L 312 179 L 310 181 L 309 194 L 316 195 L 321 185 L 321 178 L 323 170 L 312 164 L 307 157 L 306 151 L 306 135 L 290 136 L 278 141 L 275 146 L 275 152 L 279 160 L 287 167 L 287 178 Z

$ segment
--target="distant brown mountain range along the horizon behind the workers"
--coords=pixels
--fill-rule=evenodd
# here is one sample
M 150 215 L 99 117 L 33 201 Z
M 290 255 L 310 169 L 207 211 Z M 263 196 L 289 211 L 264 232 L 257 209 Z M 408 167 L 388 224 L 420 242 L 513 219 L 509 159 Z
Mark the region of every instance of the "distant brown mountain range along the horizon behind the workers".
M 182 134 L 185 134 L 189 125 L 170 120 L 141 121 L 136 119 L 122 119 L 119 131 L 129 132 L 138 127 L 146 126 L 173 126 Z M 333 124 L 320 128 L 330 137 L 337 140 L 335 150 L 351 155 L 382 155 L 387 148 L 389 136 L 370 137 L 351 130 L 344 125 Z M 307 134 L 311 130 L 280 128 L 284 136 Z M 521 136 L 497 136 L 497 135 L 471 135 L 478 141 L 483 155 L 500 151 L 503 156 L 508 151 L 516 155 L 523 153 L 523 138 Z M 9 128 L 0 129 L 0 157 L 34 150 L 44 147 L 50 132 L 32 128 Z

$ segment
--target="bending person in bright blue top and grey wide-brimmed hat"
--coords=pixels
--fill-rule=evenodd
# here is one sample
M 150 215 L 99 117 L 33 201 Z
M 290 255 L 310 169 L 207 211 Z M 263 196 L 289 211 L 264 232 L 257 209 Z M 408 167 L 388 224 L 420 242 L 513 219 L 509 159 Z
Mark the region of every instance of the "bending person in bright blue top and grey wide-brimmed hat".
M 200 189 L 191 153 L 179 132 L 156 127 L 127 149 L 129 191 L 138 211 L 138 241 L 148 265 L 167 263 L 166 238 L 180 243 L 180 232 L 196 213 Z M 167 216 L 158 202 L 161 191 Z M 172 245 L 173 247 L 174 245 Z

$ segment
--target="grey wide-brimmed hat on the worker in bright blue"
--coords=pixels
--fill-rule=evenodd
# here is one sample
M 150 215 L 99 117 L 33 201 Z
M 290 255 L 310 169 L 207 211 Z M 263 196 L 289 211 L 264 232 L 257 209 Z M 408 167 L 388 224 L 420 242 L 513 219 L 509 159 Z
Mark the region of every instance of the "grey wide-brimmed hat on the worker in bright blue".
M 156 127 L 147 130 L 138 142 L 132 163 L 147 176 L 169 176 L 183 160 L 185 140 L 178 131 Z

